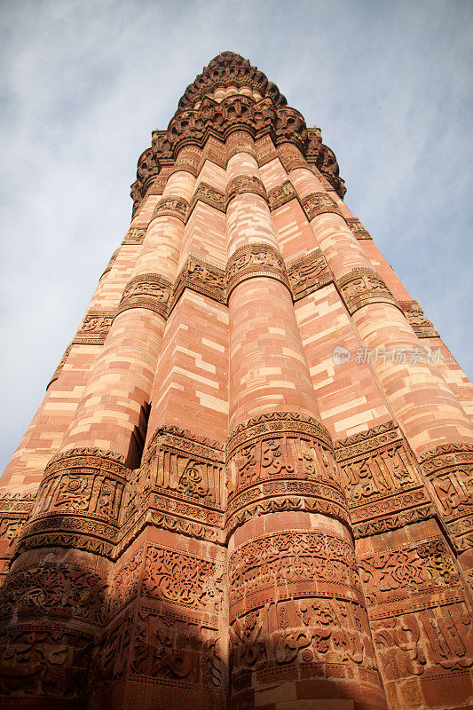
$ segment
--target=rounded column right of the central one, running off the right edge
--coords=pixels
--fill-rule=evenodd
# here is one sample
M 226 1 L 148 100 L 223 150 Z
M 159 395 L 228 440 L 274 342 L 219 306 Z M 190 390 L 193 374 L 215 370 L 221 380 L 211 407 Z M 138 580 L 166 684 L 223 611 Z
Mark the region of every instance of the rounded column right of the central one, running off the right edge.
M 372 361 L 375 375 L 422 462 L 439 513 L 469 570 L 473 509 L 461 491 L 468 485 L 471 422 L 438 367 L 426 357 L 421 341 L 374 272 L 335 201 L 295 146 L 281 146 L 280 154 L 360 339 L 376 355 Z M 391 357 L 393 352 L 401 357 Z

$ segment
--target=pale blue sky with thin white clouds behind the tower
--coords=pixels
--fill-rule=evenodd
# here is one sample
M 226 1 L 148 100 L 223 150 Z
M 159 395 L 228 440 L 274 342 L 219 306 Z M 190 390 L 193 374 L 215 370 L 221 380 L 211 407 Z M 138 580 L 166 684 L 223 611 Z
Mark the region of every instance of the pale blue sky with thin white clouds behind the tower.
M 319 126 L 345 202 L 473 377 L 470 0 L 0 0 L 0 470 L 221 51 Z

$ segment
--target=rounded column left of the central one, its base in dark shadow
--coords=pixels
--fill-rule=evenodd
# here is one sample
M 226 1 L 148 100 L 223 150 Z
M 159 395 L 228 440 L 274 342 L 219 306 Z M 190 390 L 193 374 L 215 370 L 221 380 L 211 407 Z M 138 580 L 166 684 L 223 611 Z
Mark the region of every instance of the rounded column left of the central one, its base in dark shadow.
M 123 494 L 130 466 L 139 463 L 134 430 L 149 402 L 195 182 L 186 168 L 188 152 L 184 148 L 177 156 L 154 209 L 106 343 L 59 454 L 46 467 L 4 584 L 2 611 L 11 620 L 2 675 L 28 674 L 22 665 L 27 654 L 35 667 L 36 698 L 28 708 L 46 701 L 48 707 L 81 707 L 91 698 L 88 682 L 108 613 Z M 19 689 L 21 695 L 24 683 Z

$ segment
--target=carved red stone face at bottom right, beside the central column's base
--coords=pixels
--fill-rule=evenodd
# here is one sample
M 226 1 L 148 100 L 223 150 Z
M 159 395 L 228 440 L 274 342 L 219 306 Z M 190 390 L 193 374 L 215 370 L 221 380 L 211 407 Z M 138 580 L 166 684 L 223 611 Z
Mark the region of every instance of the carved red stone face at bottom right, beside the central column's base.
M 358 562 L 391 706 L 422 706 L 424 693 L 437 698 L 438 681 L 454 673 L 464 695 L 458 706 L 466 707 L 473 621 L 444 537 L 382 548 Z M 442 706 L 457 706 L 448 702 L 445 691 L 442 695 Z

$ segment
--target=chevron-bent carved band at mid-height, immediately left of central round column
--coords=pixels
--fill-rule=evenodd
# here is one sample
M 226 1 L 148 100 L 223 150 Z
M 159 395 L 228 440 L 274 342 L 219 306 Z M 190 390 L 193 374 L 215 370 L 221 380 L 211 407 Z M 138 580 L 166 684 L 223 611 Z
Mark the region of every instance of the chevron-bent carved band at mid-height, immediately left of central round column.
M 209 296 L 220 304 L 226 304 L 225 271 L 193 254 L 188 256 L 175 281 L 169 303 L 169 315 L 185 288 L 192 288 L 193 291 Z

